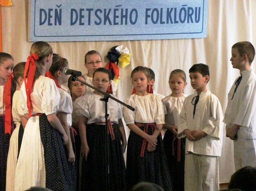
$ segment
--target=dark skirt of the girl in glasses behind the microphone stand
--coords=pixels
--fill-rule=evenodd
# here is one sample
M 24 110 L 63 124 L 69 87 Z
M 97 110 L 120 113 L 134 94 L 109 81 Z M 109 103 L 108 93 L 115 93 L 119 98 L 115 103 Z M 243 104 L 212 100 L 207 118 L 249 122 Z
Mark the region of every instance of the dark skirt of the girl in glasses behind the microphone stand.
M 109 142 L 109 190 L 125 191 L 125 161 L 121 147 L 120 130 L 112 124 L 115 139 Z M 89 153 L 87 161 L 82 160 L 81 191 L 105 190 L 105 125 L 86 125 Z

